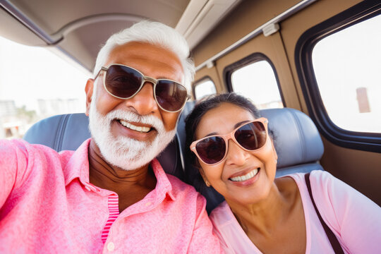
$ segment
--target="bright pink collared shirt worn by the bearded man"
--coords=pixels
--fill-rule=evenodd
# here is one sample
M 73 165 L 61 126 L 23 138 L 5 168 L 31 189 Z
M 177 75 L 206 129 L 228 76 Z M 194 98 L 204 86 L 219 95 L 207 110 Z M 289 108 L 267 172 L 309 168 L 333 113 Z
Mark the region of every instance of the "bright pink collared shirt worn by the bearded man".
M 89 183 L 89 144 L 0 140 L 0 253 L 220 253 L 205 198 L 156 159 L 155 189 L 119 214 L 118 195 Z

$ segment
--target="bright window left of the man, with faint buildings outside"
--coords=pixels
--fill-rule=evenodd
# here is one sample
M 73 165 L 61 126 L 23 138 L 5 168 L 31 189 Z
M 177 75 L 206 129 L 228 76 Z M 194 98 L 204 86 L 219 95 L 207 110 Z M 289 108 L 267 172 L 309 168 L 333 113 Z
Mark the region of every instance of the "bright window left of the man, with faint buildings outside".
M 85 112 L 90 77 L 48 49 L 0 37 L 0 138 L 22 138 L 48 116 Z

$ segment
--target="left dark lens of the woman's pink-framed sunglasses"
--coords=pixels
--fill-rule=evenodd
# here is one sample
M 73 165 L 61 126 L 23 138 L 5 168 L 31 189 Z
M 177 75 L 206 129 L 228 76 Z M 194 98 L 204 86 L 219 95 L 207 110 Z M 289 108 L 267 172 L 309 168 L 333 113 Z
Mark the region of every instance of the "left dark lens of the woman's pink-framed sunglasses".
M 205 138 L 196 145 L 198 156 L 206 164 L 214 164 L 221 161 L 226 152 L 225 140 L 219 137 Z

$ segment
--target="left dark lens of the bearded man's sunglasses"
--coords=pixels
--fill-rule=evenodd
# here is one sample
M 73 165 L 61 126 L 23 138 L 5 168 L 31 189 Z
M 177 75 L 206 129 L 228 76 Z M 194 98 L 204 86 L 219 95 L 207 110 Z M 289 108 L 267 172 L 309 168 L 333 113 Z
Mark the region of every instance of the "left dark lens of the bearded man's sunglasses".
M 111 65 L 106 73 L 107 90 L 117 97 L 128 98 L 139 90 L 143 76 L 133 68 Z

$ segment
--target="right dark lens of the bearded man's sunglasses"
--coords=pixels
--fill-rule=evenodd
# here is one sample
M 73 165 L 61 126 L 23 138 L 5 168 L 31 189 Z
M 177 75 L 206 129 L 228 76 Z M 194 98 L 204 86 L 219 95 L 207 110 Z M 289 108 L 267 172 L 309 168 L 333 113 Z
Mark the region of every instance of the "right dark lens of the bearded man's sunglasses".
M 155 93 L 157 103 L 168 111 L 181 109 L 187 97 L 186 87 L 171 80 L 159 80 Z

